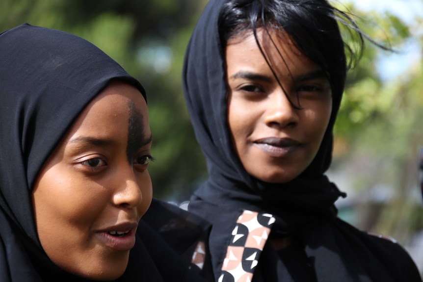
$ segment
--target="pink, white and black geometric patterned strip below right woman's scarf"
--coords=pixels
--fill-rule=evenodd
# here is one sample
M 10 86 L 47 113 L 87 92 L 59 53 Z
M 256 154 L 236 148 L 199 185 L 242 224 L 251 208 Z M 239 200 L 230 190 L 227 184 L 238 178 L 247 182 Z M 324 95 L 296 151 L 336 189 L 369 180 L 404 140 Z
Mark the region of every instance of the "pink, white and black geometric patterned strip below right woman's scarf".
M 242 212 L 232 231 L 218 282 L 251 282 L 274 222 L 269 213 Z

